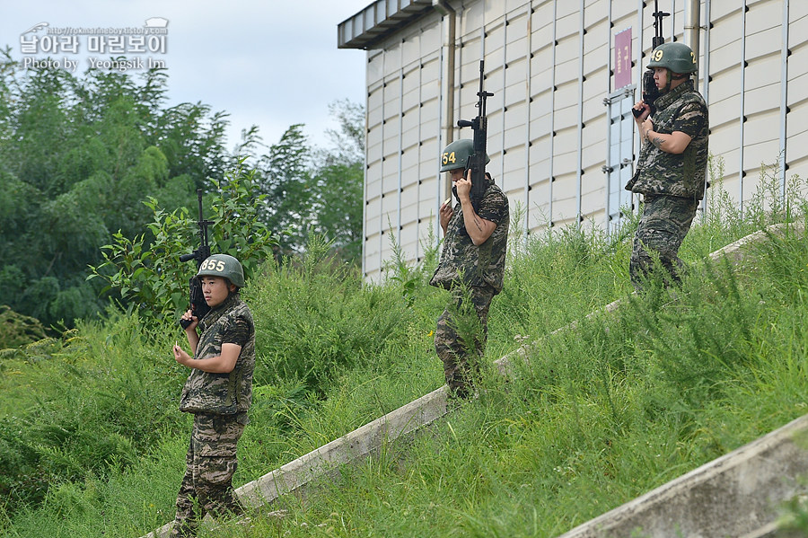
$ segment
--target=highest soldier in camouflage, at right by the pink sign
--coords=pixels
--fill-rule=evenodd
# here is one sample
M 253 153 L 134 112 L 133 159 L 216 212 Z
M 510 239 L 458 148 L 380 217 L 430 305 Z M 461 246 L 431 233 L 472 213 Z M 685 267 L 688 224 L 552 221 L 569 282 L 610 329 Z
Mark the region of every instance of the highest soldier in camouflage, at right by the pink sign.
M 649 68 L 660 96 L 654 101 L 654 118 L 644 101 L 637 118 L 645 141 L 637 171 L 627 190 L 643 195 L 643 215 L 637 226 L 629 274 L 634 287 L 654 268 L 655 258 L 666 271 L 665 282 L 680 282 L 683 263 L 677 255 L 704 198 L 707 171 L 707 104 L 694 89 L 690 75 L 696 72 L 696 56 L 682 43 L 663 43 L 651 53 Z

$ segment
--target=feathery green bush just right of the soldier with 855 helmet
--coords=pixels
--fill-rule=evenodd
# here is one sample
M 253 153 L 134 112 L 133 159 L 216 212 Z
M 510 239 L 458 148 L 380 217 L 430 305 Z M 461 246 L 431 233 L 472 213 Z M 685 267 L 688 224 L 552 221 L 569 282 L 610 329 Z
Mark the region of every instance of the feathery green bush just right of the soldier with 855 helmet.
M 256 323 L 256 384 L 297 379 L 322 394 L 338 372 L 372 364 L 406 337 L 414 313 L 398 287 L 364 284 L 356 269 L 329 268 L 329 244 L 313 238 L 303 264 L 267 267 L 249 288 Z

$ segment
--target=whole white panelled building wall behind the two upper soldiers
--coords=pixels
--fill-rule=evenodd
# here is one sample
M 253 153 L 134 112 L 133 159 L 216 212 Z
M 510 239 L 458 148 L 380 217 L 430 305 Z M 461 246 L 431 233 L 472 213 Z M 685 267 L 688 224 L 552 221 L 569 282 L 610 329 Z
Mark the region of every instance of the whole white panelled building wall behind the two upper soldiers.
M 391 0 L 388 0 L 391 1 Z M 654 3 L 642 0 L 462 0 L 457 12 L 454 113 L 472 119 L 485 58 L 491 172 L 525 210 L 523 226 L 607 227 L 613 41 L 631 29 L 632 83 L 650 49 Z M 685 0 L 663 33 L 682 40 Z M 739 205 L 758 186 L 761 163 L 808 175 L 808 2 L 702 0 L 699 79 L 710 108 L 710 150 L 725 163 L 725 190 Z M 379 278 L 392 242 L 419 261 L 437 240 L 445 179 L 437 172 L 446 99 L 447 20 L 437 12 L 368 50 L 364 272 Z M 708 50 L 708 53 L 706 52 Z M 787 84 L 786 84 L 787 81 Z M 629 88 L 630 90 L 631 88 Z M 636 100 L 634 96 L 630 96 Z M 471 137 L 455 130 L 454 138 Z M 635 137 L 635 146 L 637 140 Z M 632 155 L 631 161 L 634 161 Z M 787 172 L 786 172 L 787 170 Z M 709 207 L 707 207 L 707 211 Z M 393 234 L 391 238 L 390 234 Z

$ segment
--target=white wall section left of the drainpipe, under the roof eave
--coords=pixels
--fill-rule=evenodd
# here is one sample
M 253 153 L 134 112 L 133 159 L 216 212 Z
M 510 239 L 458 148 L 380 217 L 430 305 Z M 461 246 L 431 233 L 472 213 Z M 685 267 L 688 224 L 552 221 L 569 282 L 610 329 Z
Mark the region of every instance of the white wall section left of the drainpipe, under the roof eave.
M 368 51 L 364 272 L 377 278 L 392 242 L 420 260 L 434 230 L 439 176 L 441 19 L 435 13 Z M 391 235 L 392 234 L 392 238 Z

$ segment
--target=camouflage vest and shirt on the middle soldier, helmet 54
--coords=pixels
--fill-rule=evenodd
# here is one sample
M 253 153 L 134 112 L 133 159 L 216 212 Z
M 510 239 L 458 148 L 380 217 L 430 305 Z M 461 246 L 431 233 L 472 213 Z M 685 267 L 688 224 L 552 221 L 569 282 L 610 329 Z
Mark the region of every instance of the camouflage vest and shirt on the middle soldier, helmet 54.
M 454 205 L 454 213 L 446 226 L 444 250 L 429 284 L 451 289 L 461 281 L 470 287 L 490 286 L 494 293 L 502 291 L 505 274 L 505 251 L 508 246 L 508 226 L 511 216 L 508 197 L 488 181 L 483 198 L 479 202 L 477 214 L 496 225 L 494 232 L 481 245 L 471 242 L 463 224 L 463 211 L 460 202 Z

